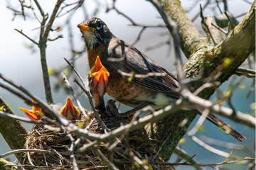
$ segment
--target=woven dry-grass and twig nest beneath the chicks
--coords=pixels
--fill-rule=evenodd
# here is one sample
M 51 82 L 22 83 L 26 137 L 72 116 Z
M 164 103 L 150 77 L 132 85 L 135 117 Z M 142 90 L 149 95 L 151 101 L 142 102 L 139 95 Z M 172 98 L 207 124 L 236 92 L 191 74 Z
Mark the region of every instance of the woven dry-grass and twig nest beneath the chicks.
M 105 118 L 103 122 L 114 130 L 120 125 L 130 122 L 128 118 Z M 75 120 L 76 124 L 85 124 L 85 120 Z M 52 125 L 54 128 L 55 125 Z M 92 133 L 103 134 L 104 128 L 95 121 L 90 127 Z M 78 137 L 70 133 L 76 140 Z M 154 146 L 151 145 L 146 131 L 142 128 L 127 133 L 124 137 L 119 137 L 121 142 L 109 141 L 109 143 L 99 143 L 93 147 L 100 149 L 100 152 L 119 169 L 144 169 L 136 163 L 134 157 L 139 158 L 142 162 L 151 162 L 156 155 Z M 113 147 L 113 143 L 117 142 Z M 43 128 L 42 125 L 34 125 L 31 132 L 28 133 L 26 140 L 26 149 L 42 149 L 48 152 L 28 152 L 26 154 L 26 162 L 29 162 L 34 168 L 38 169 L 73 169 L 72 159 L 70 159 L 70 137 L 66 132 L 49 130 Z M 88 143 L 87 140 L 82 140 L 83 144 Z M 108 147 L 106 147 L 108 146 Z M 112 146 L 112 149 L 109 149 Z M 86 149 L 83 152 L 79 151 L 82 147 L 75 147 L 75 161 L 80 169 L 108 169 L 105 162 L 98 157 L 92 148 Z M 155 157 L 154 162 L 162 162 L 160 157 Z M 153 169 L 163 169 L 156 164 L 149 165 Z

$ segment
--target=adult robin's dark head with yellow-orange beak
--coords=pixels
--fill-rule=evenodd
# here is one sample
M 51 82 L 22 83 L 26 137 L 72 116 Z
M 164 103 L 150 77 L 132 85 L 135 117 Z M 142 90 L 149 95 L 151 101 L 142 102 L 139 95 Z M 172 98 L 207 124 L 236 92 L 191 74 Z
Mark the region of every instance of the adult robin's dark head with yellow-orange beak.
M 100 18 L 90 18 L 78 24 L 78 28 L 85 38 L 87 50 L 94 49 L 97 45 L 102 45 L 110 42 L 112 33 L 107 25 Z

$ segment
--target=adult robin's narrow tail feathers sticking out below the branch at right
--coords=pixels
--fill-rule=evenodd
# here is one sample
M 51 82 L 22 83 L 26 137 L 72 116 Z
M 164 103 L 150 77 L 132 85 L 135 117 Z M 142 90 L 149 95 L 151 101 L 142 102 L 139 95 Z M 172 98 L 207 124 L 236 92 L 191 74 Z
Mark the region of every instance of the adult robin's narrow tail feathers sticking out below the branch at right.
M 222 128 L 223 130 L 225 130 L 225 132 L 228 132 L 228 134 L 235 137 L 235 139 L 237 139 L 237 140 L 246 139 L 246 137 L 244 135 L 242 135 L 240 132 L 231 128 L 230 125 L 225 123 L 223 120 L 221 120 L 217 116 L 215 116 L 213 114 L 208 114 L 206 119 L 209 120 L 211 123 L 217 125 L 218 127 Z

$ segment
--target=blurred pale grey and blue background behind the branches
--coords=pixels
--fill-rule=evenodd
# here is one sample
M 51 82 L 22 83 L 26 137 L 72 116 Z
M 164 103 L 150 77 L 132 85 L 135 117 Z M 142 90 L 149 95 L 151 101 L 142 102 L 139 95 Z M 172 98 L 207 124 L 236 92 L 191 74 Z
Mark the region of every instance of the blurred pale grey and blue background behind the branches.
M 55 1 L 38 1 L 45 12 L 51 13 Z M 66 1 L 70 4 L 72 1 Z M 29 4 L 29 2 L 28 2 Z M 202 32 L 201 29 L 201 18 L 196 18 L 200 11 L 199 4 L 204 6 L 206 1 L 181 1 L 183 8 L 188 11 L 188 17 L 193 19 L 195 26 Z M 238 21 L 242 19 L 242 16 L 249 11 L 252 0 L 242 1 L 233 0 L 228 1 L 228 11 L 233 13 L 234 16 L 238 16 Z M 223 6 L 222 3 L 220 5 Z M 50 33 L 49 38 L 56 38 L 58 35 L 63 35 L 55 41 L 48 41 L 48 46 L 46 49 L 46 56 L 48 62 L 48 69 L 52 73 L 50 77 L 51 87 L 53 92 L 54 103 L 59 103 L 61 106 L 64 104 L 66 98 L 70 95 L 68 91 L 65 90 L 65 84 L 60 84 L 62 81 L 60 72 L 69 73 L 68 64 L 63 60 L 63 57 L 68 60 L 73 60 L 75 56 L 75 68 L 78 72 L 86 79 L 89 73 L 89 68 L 87 65 L 87 54 L 82 52 L 81 55 L 75 55 L 75 52 L 81 52 L 84 49 L 84 42 L 81 38 L 80 30 L 77 28 L 78 23 L 90 18 L 92 16 L 97 16 L 102 18 L 107 26 L 110 28 L 112 33 L 118 38 L 133 44 L 137 40 L 141 27 L 129 26 L 131 22 L 124 18 L 124 16 L 119 15 L 116 11 L 111 10 L 106 12 L 107 7 L 112 6 L 112 1 L 85 1 L 82 8 L 78 10 L 65 14 L 56 18 L 53 23 L 53 28 L 60 26 L 62 30 L 58 32 Z M 34 18 L 33 13 L 28 11 L 28 16 L 26 20 L 21 16 L 14 17 L 14 11 L 10 8 L 21 10 L 18 1 L 1 1 L 0 13 L 1 13 L 1 31 L 0 31 L 0 73 L 4 74 L 6 77 L 16 81 L 16 83 L 21 84 L 23 87 L 31 91 L 36 96 L 45 100 L 44 88 L 43 88 L 43 77 L 41 72 L 41 61 L 38 47 L 33 45 L 33 43 L 25 38 L 23 35 L 18 33 L 15 28 L 22 30 L 23 33 L 28 35 L 33 40 L 38 41 L 38 33 L 40 24 Z M 142 24 L 157 24 L 163 23 L 159 13 L 156 11 L 154 6 L 148 1 L 144 0 L 119 0 L 115 3 L 115 7 L 125 13 L 127 16 L 133 19 L 136 23 Z M 65 11 L 63 11 L 65 13 Z M 39 13 L 38 13 L 39 14 Z M 218 15 L 219 11 L 215 4 L 215 1 L 210 1 L 208 8 L 203 11 L 204 16 L 208 15 Z M 195 19 L 194 19 L 195 18 Z M 202 32 L 203 34 L 203 32 Z M 135 43 L 137 47 L 142 52 L 146 53 L 153 60 L 158 62 L 161 66 L 168 69 L 170 72 L 175 74 L 176 67 L 174 65 L 174 50 L 169 47 L 167 42 L 171 40 L 171 37 L 166 28 L 146 28 L 140 37 L 140 40 Z M 173 45 L 171 45 L 173 46 Z M 71 51 L 73 50 L 73 52 Z M 183 62 L 186 62 L 186 58 L 183 57 Z M 249 67 L 245 62 L 242 67 Z M 255 65 L 252 65 L 255 69 Z M 225 82 L 220 86 L 220 91 L 225 91 L 228 89 L 230 84 L 235 84 L 241 81 L 241 77 L 233 76 L 229 81 Z M 73 77 L 70 77 L 70 83 L 74 89 L 78 89 L 76 84 L 73 84 Z M 254 114 L 253 107 L 255 107 L 255 89 L 250 92 L 251 87 L 254 87 L 255 79 L 242 79 L 242 85 L 240 89 L 236 89 L 233 93 L 232 103 L 235 109 L 241 111 L 242 113 Z M 4 89 L 0 89 L 0 96 L 11 106 L 17 115 L 26 117 L 22 111 L 18 110 L 21 108 L 31 108 L 31 106 L 26 106 L 25 103 L 13 94 L 10 94 Z M 210 98 L 210 100 L 215 100 L 215 95 Z M 87 98 L 84 94 L 79 97 L 82 105 L 90 110 L 90 106 L 87 103 Z M 106 97 L 106 99 L 109 99 Z M 228 106 L 225 104 L 225 106 Z M 129 108 L 121 106 L 122 111 L 127 111 Z M 196 118 L 193 122 L 195 123 Z M 234 154 L 240 157 L 255 157 L 255 130 L 247 128 L 245 125 L 239 125 L 233 123 L 231 120 L 223 118 L 225 122 L 232 125 L 233 128 L 242 132 L 243 135 L 247 137 L 247 140 L 239 142 L 237 149 Z M 191 127 L 193 127 L 191 124 Z M 28 123 L 23 123 L 28 130 L 31 130 L 32 125 Z M 218 130 L 215 125 L 211 123 L 204 123 L 204 130 L 196 134 L 201 140 L 209 143 L 211 146 L 221 149 L 224 152 L 231 152 L 234 149 L 235 140 L 230 135 L 225 135 L 224 132 Z M 198 146 L 193 142 L 187 135 L 184 136 L 186 139 L 179 147 L 186 150 L 191 157 L 196 154 L 196 161 L 203 164 L 212 164 L 216 162 L 223 162 L 224 157 L 220 157 L 216 154 L 208 152 L 206 149 Z M 222 141 L 224 143 L 218 142 Z M 217 145 L 216 145 L 217 144 Z M 218 145 L 220 144 L 220 145 Z M 229 145 L 228 145 L 229 144 Z M 226 147 L 226 145 L 231 147 Z M 4 141 L 4 138 L 0 135 L 0 154 L 4 154 L 10 150 L 9 146 Z M 11 161 L 15 160 L 15 157 L 9 157 Z M 175 162 L 177 157 L 173 155 L 170 162 Z M 222 168 L 226 169 L 245 169 L 243 165 L 225 165 Z M 178 166 L 176 169 L 193 169 L 192 167 Z M 206 167 L 206 169 L 211 169 Z

